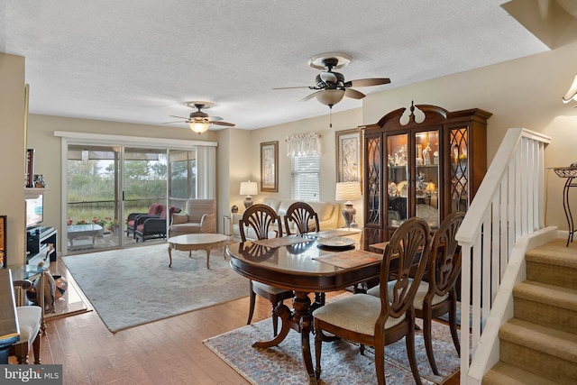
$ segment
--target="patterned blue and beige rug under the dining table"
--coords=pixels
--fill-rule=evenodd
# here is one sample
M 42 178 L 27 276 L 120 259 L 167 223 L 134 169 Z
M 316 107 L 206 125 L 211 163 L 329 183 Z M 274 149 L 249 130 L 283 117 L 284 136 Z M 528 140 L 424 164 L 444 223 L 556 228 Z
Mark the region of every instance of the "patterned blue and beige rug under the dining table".
M 271 322 L 269 318 L 254 325 L 246 325 L 223 335 L 208 338 L 203 344 L 253 385 L 307 384 L 307 372 L 301 358 L 300 335 L 297 332 L 290 330 L 287 338 L 279 346 L 269 349 L 252 347 L 256 341 L 272 337 Z M 422 322 L 417 320 L 417 325 L 421 326 Z M 460 369 L 459 356 L 455 351 L 449 327 L 434 322 L 433 334 L 435 361 L 440 376 L 436 376 L 429 366 L 422 331 L 417 331 L 415 337 L 417 365 L 424 384 L 442 384 Z M 315 362 L 315 343 L 312 336 L 311 353 Z M 408 365 L 404 339 L 385 347 L 385 355 L 387 383 L 415 382 Z M 365 355 L 361 355 L 356 344 L 343 340 L 323 343 L 321 364 L 321 384 L 377 383 L 374 355 L 369 348 L 365 351 Z

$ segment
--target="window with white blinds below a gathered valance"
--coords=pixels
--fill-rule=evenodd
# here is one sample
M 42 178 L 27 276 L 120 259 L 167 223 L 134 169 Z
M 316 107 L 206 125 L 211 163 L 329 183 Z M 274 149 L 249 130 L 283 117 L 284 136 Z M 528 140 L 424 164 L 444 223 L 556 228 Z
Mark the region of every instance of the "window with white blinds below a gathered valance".
M 291 197 L 298 200 L 318 201 L 320 197 L 320 157 L 290 158 Z

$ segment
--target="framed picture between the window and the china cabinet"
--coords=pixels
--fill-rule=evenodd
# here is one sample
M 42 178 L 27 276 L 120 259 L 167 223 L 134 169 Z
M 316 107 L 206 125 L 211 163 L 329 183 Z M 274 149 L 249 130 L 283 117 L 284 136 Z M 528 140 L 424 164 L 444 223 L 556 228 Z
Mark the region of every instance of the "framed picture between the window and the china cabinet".
M 353 128 L 337 131 L 334 135 L 336 137 L 336 181 L 361 183 L 361 132 Z

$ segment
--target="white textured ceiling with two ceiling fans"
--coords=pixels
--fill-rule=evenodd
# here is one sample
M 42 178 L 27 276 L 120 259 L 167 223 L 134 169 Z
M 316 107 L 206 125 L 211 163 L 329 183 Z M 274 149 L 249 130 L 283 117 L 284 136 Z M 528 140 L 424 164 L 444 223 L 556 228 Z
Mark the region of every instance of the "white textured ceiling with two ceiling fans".
M 255 129 L 328 114 L 299 103 L 311 90 L 272 89 L 313 86 L 319 53 L 353 57 L 345 80 L 391 79 L 356 88 L 370 94 L 548 50 L 503 3 L 3 0 L 0 51 L 26 58 L 31 114 L 161 125 L 206 100 L 209 115 Z

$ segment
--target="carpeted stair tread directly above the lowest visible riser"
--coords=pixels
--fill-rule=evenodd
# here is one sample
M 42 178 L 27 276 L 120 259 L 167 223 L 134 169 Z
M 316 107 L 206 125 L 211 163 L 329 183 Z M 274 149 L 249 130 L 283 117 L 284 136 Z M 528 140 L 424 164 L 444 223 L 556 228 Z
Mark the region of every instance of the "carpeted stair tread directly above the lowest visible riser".
M 577 335 L 512 318 L 499 328 L 499 338 L 577 364 Z

